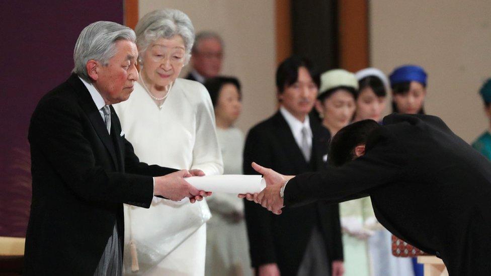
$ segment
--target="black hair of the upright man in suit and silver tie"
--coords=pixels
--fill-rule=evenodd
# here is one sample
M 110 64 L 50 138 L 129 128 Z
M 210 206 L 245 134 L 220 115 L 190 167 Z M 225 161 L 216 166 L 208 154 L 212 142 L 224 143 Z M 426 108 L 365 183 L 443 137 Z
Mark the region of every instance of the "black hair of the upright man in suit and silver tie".
M 315 85 L 320 85 L 320 75 L 313 63 L 300 56 L 290 56 L 285 59 L 276 70 L 276 88 L 278 93 L 282 94 L 285 87 L 292 85 L 298 80 L 298 68 L 305 67 L 314 81 Z

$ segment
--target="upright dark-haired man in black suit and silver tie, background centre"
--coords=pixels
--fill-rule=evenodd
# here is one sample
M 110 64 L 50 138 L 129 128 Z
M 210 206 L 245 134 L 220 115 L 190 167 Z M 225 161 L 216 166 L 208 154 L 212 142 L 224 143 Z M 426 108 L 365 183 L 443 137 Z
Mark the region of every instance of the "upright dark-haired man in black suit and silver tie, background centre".
M 280 110 L 249 132 L 243 171 L 257 173 L 257 161 L 284 174 L 319 171 L 325 166 L 329 131 L 311 118 L 319 76 L 306 59 L 290 57 L 276 73 Z M 252 265 L 263 275 L 343 273 L 339 208 L 323 201 L 275 216 L 246 202 Z M 295 241 L 295 242 L 292 242 Z

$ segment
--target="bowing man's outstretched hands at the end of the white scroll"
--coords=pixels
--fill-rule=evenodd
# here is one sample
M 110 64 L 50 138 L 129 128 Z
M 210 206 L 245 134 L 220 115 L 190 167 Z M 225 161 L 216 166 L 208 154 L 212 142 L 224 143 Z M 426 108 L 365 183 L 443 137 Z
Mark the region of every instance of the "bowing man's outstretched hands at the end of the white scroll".
M 283 197 L 280 195 L 280 190 L 285 185 L 285 182 L 294 176 L 283 175 L 270 168 L 263 167 L 256 162 L 253 162 L 252 166 L 257 172 L 263 175 L 266 180 L 266 188 L 259 194 L 239 194 L 238 197 L 259 203 L 276 215 L 281 214 Z

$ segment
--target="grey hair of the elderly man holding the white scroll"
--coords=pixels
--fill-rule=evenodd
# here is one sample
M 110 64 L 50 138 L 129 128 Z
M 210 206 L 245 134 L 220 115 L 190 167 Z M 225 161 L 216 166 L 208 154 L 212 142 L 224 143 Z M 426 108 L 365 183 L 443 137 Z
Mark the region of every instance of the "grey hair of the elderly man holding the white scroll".
M 116 54 L 115 43 L 118 40 L 136 41 L 135 32 L 130 28 L 110 21 L 97 21 L 82 30 L 73 50 L 75 67 L 72 72 L 91 82 L 87 73 L 87 62 L 91 59 L 108 65 L 109 59 Z

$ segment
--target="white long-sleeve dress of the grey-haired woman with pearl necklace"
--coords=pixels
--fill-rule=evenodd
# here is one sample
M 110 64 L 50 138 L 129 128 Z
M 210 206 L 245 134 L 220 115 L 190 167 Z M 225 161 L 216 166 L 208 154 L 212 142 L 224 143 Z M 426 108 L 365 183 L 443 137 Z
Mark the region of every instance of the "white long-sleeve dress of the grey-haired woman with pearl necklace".
M 221 174 L 223 162 L 210 96 L 199 82 L 178 78 L 158 107 L 135 83 L 129 99 L 114 108 L 141 161 L 177 169 Z M 136 244 L 145 275 L 203 275 L 206 201 L 173 202 L 154 197 L 150 209 L 125 205 L 125 274 L 132 274 L 129 241 Z

